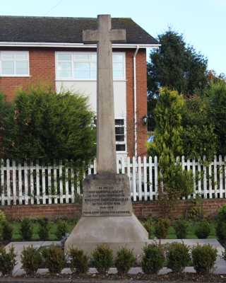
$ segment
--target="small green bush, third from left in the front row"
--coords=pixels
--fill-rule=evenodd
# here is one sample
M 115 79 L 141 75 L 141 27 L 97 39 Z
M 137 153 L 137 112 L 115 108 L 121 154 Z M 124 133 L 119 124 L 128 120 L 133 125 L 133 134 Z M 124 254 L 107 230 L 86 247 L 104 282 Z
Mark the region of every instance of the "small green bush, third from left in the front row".
M 59 246 L 49 246 L 42 249 L 44 266 L 49 269 L 52 274 L 60 273 L 66 265 L 64 250 Z

